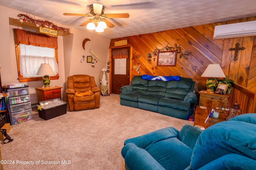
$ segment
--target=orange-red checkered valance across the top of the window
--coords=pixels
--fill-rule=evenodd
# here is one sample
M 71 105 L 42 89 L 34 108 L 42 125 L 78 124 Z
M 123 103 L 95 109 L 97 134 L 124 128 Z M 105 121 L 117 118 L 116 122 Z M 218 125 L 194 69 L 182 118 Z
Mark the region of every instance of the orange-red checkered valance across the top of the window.
M 23 29 L 14 29 L 15 44 L 34 45 L 58 49 L 58 37 L 33 33 Z

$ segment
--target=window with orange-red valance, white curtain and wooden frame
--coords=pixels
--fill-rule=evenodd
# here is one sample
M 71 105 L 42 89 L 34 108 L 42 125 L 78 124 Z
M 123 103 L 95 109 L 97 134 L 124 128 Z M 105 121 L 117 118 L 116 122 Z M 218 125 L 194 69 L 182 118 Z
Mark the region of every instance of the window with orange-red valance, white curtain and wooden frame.
M 20 82 L 39 81 L 36 75 L 42 63 L 48 63 L 58 79 L 58 37 L 14 29 L 18 79 Z

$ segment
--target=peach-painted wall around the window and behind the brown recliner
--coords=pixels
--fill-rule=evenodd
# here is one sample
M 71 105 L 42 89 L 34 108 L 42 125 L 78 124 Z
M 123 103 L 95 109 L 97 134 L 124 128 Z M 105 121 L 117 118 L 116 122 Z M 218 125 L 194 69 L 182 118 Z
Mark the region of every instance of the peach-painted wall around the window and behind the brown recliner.
M 10 83 L 19 83 L 18 69 L 16 62 L 16 52 L 14 45 L 14 33 L 13 28 L 19 28 L 9 25 L 9 17 L 18 19 L 17 15 L 23 14 L 23 12 L 0 6 L 0 64 L 1 64 L 1 80 L 2 85 Z M 36 16 L 35 16 L 36 17 Z M 38 17 L 36 17 L 38 18 Z M 38 18 L 42 19 L 42 18 Z M 58 26 L 69 27 L 57 23 Z M 24 29 L 24 28 L 21 28 Z M 67 36 L 58 36 L 58 65 L 59 75 L 58 80 L 51 80 L 51 85 L 62 86 L 62 100 L 66 101 L 66 84 L 67 77 L 74 74 L 88 74 L 94 76 L 95 82 L 100 87 L 100 73 L 101 69 L 107 66 L 107 60 L 109 58 L 109 45 L 110 39 L 102 37 L 100 35 L 93 34 L 88 31 L 83 31 L 76 28 L 70 28 L 71 34 Z M 29 31 L 36 32 L 37 30 L 27 29 Z M 85 50 L 82 48 L 82 42 L 85 38 L 89 38 L 85 45 Z M 92 49 L 100 61 L 97 59 L 97 63 L 94 67 L 91 63 L 86 63 L 85 60 L 80 63 L 82 56 L 92 55 L 89 50 Z M 95 58 L 95 57 L 94 57 Z M 107 75 L 109 77 L 109 75 Z M 35 88 L 42 87 L 42 81 L 24 82 L 29 86 L 31 103 L 37 103 L 37 94 Z

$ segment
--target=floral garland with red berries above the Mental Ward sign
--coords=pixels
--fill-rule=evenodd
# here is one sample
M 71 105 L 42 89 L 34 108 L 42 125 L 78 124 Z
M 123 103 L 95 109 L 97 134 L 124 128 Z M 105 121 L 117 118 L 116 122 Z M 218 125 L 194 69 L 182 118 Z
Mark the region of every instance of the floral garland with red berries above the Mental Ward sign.
M 70 33 L 70 28 L 58 27 L 57 25 L 55 25 L 54 23 L 52 23 L 50 21 L 38 20 L 38 19 L 31 17 L 27 14 L 18 14 L 18 18 L 20 19 L 21 23 L 29 22 L 29 23 L 36 25 L 36 27 L 42 26 L 42 27 L 47 27 L 47 28 L 51 28 L 54 30 L 58 30 L 61 32 Z

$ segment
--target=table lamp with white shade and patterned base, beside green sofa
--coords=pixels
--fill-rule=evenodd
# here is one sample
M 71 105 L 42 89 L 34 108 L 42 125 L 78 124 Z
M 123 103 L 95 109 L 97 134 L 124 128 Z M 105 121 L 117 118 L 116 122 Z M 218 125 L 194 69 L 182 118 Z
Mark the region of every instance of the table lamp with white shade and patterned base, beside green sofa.
M 214 88 L 218 85 L 218 78 L 226 78 L 220 64 L 209 64 L 201 77 L 208 78 L 206 80 L 206 90 L 210 93 L 213 93 Z

